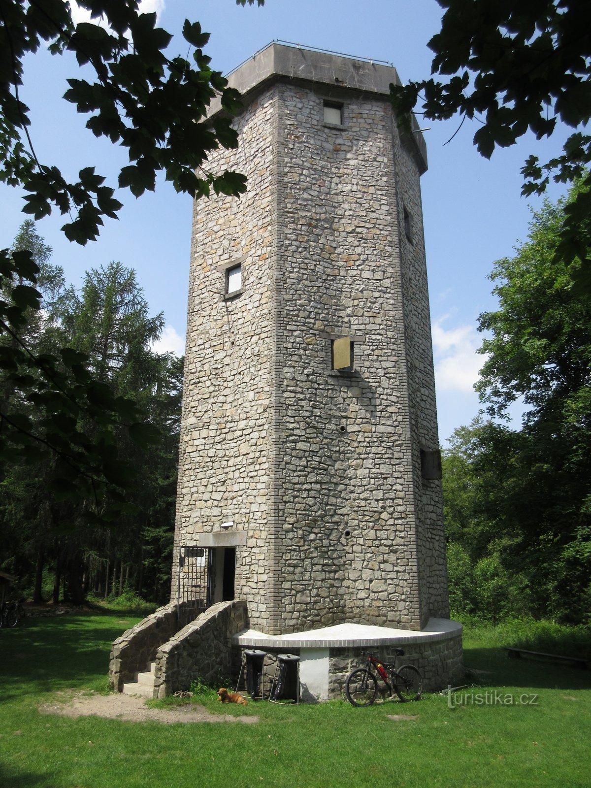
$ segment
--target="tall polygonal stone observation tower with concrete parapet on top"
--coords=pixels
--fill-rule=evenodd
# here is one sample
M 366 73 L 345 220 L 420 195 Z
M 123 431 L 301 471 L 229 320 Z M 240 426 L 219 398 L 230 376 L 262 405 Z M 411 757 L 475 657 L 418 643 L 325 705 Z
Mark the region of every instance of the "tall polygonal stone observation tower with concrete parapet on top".
M 397 127 L 392 82 L 389 65 L 276 43 L 229 76 L 240 147 L 210 167 L 248 189 L 195 203 L 172 599 L 245 600 L 258 640 L 242 645 L 422 634 L 419 651 L 446 644 L 445 682 L 461 639 L 440 620 L 426 147 Z

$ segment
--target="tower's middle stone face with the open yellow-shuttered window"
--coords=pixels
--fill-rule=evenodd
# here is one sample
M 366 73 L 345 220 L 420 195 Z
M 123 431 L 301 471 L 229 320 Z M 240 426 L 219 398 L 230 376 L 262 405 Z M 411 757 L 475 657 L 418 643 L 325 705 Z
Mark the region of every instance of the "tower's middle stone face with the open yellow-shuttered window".
M 420 395 L 409 388 L 423 381 L 409 370 L 429 366 L 429 312 L 424 275 L 410 295 L 416 314 L 405 303 L 397 191 L 418 191 L 418 169 L 400 157 L 385 97 L 333 89 L 344 123 L 331 128 L 322 86 L 279 91 L 281 630 L 420 629 Z M 330 337 L 344 334 L 355 372 L 333 373 Z M 431 444 L 433 385 L 429 395 L 415 415 Z

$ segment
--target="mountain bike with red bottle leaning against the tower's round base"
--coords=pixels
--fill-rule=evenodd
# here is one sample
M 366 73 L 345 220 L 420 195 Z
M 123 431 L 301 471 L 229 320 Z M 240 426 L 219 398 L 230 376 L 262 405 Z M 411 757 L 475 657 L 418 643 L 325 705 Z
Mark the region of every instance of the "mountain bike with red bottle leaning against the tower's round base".
M 364 656 L 362 652 L 361 656 Z M 377 697 L 377 682 L 381 678 L 390 692 L 395 692 L 404 703 L 418 701 L 422 693 L 422 675 L 414 665 L 396 668 L 396 657 L 404 656 L 403 649 L 396 649 L 393 663 L 382 663 L 374 652 L 369 652 L 366 666 L 357 667 L 347 677 L 345 694 L 353 706 L 371 706 Z

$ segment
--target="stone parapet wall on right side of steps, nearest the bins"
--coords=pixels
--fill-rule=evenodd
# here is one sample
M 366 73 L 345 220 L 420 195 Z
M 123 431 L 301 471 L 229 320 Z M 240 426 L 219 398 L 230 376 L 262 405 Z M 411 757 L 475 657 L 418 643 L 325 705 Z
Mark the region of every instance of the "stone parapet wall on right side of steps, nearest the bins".
M 237 672 L 232 665 L 232 636 L 247 626 L 243 600 L 214 604 L 184 626 L 156 653 L 154 697 L 189 689 L 197 678 L 209 684 Z

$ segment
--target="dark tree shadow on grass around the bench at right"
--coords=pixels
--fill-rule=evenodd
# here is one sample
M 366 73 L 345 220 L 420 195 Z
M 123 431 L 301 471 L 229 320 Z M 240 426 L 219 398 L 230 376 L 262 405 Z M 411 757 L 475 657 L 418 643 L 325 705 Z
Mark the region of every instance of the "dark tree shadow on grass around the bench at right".
M 589 689 L 591 671 L 542 660 L 511 660 L 500 647 L 464 648 L 466 671 L 481 686 L 536 687 L 537 689 Z M 478 671 L 484 671 L 482 673 Z

